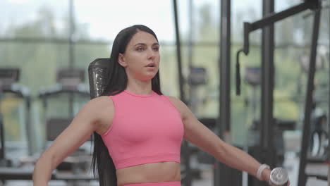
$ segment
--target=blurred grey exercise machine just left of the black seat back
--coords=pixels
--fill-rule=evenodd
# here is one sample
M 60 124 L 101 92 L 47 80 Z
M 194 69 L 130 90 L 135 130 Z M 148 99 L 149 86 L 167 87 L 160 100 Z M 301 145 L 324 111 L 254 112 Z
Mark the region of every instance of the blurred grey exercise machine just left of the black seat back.
M 39 91 L 39 99 L 42 100 L 43 106 L 43 120 L 45 123 L 45 144 L 44 148 L 47 148 L 56 137 L 68 127 L 73 119 L 75 113 L 73 104 L 75 100 L 82 99 L 82 101 L 88 101 L 90 98 L 90 92 L 86 85 L 82 84 L 85 80 L 85 72 L 79 68 L 59 68 L 56 71 L 56 85 L 50 87 L 44 87 Z M 68 99 L 65 104 L 68 103 L 68 116 L 47 116 L 49 112 L 49 102 L 51 99 Z M 54 109 L 54 105 L 52 108 Z M 79 106 L 78 106 L 79 107 Z M 79 109 L 79 108 L 78 108 Z M 52 111 L 53 113 L 54 111 Z M 85 147 L 86 146 L 86 147 Z M 70 156 L 60 163 L 58 166 L 59 171 L 73 171 L 79 173 L 80 171 L 86 171 L 89 168 L 90 149 L 89 145 L 82 144 L 82 146 Z M 85 147 L 85 148 L 84 148 Z M 84 158 L 85 157 L 85 158 Z

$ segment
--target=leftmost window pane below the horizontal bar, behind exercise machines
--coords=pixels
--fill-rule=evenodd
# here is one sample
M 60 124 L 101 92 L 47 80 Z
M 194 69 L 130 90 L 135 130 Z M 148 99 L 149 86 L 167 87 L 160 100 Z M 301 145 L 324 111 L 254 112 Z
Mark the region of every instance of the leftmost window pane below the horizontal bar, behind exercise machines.
M 42 88 L 56 84 L 56 68 L 68 64 L 68 45 L 1 42 L 0 56 L 0 67 L 19 68 L 20 80 L 17 85 L 30 90 L 32 97 L 30 110 L 32 142 L 30 145 L 36 150 L 42 146 L 44 140 L 42 104 L 37 95 Z M 25 111 L 27 110 L 24 100 L 5 97 L 1 104 L 1 111 L 4 113 L 6 142 L 26 142 Z M 27 148 L 27 145 L 23 147 Z

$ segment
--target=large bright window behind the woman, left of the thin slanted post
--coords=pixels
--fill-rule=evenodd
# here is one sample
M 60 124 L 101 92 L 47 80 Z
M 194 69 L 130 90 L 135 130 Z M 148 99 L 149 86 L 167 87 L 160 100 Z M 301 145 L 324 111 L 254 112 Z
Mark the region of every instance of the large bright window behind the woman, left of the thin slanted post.
M 69 99 L 61 96 L 49 100 L 45 113 L 40 91 L 55 86 L 56 70 L 68 66 L 83 68 L 87 85 L 88 65 L 95 58 L 110 56 L 114 37 L 124 27 L 143 24 L 156 32 L 159 42 L 164 43 L 161 46 L 164 92 L 178 96 L 171 1 L 5 0 L 0 1 L 0 6 L 3 10 L 0 67 L 20 68 L 18 86 L 30 90 L 33 136 L 27 143 L 32 144 L 35 152 L 44 145 L 45 117 L 68 117 L 69 112 Z M 2 98 L 6 142 L 25 143 L 24 100 L 10 94 Z M 74 99 L 74 113 L 86 101 Z

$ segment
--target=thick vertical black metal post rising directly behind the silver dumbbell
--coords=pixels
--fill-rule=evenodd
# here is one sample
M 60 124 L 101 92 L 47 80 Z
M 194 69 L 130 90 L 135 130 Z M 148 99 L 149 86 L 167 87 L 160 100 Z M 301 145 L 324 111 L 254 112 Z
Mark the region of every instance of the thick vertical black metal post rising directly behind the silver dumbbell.
M 274 13 L 274 0 L 264 0 L 262 14 Z M 262 70 L 260 101 L 260 144 L 262 159 L 271 167 L 276 166 L 276 148 L 274 147 L 274 23 L 262 28 Z

